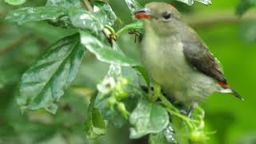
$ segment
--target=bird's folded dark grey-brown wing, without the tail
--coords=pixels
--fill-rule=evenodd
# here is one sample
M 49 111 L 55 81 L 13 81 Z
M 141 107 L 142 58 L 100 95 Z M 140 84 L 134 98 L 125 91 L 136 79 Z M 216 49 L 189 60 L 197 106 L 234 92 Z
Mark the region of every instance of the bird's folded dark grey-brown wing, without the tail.
M 193 36 L 194 38 L 182 42 L 186 61 L 203 74 L 216 79 L 218 82 L 226 83 L 226 78 L 222 73 L 218 60 L 214 58 L 213 54 L 210 53 L 196 34 Z

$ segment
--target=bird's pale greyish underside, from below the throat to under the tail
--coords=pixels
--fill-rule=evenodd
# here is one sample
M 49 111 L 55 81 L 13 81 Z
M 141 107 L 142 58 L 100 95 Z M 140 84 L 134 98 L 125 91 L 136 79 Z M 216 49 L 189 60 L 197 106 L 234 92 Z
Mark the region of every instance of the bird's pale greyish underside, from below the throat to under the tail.
M 161 42 L 161 46 L 158 44 Z M 168 45 L 171 43 L 170 45 Z M 168 47 L 164 49 L 163 46 Z M 142 62 L 148 69 L 150 76 L 162 89 L 177 102 L 198 102 L 218 90 L 217 82 L 213 78 L 194 70 L 186 62 L 182 51 L 182 43 L 173 39 L 147 41 L 142 46 Z

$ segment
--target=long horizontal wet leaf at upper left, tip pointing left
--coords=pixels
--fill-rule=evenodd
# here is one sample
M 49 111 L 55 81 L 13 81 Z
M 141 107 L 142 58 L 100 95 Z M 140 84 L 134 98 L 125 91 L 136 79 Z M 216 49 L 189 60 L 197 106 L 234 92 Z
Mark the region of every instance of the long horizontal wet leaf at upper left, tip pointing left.
M 25 22 L 56 20 L 66 14 L 66 10 L 62 7 L 24 7 L 10 12 L 6 16 L 7 20 L 11 22 L 18 22 L 22 24 Z

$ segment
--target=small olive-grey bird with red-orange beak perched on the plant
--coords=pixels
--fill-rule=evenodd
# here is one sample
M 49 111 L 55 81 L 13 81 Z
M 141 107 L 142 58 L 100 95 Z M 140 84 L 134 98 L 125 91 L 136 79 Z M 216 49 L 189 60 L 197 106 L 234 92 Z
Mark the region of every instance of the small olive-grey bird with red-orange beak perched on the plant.
M 145 26 L 142 63 L 175 102 L 192 106 L 214 92 L 242 99 L 228 85 L 217 58 L 174 6 L 150 2 L 134 17 Z

